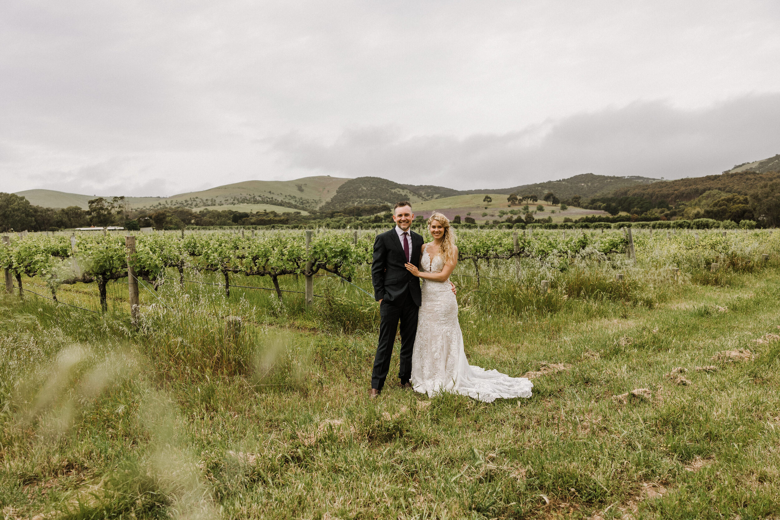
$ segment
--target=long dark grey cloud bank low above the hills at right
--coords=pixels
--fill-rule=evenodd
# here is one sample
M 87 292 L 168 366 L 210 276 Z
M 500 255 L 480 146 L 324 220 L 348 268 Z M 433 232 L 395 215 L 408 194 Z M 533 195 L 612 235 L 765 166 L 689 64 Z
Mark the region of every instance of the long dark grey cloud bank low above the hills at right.
M 295 168 L 459 189 L 516 186 L 570 175 L 711 175 L 780 153 L 780 94 L 707 108 L 636 102 L 503 134 L 405 136 L 352 129 L 332 143 L 289 134 L 273 147 Z

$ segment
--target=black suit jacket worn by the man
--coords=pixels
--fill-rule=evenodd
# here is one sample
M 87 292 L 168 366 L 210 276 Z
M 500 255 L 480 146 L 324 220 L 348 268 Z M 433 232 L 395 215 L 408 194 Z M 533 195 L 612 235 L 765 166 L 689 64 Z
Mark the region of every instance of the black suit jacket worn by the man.
M 410 232 L 411 263 L 420 268 L 420 249 L 424 244 L 422 235 Z M 406 256 L 403 246 L 395 232 L 395 228 L 377 235 L 374 240 L 374 263 L 371 264 L 371 281 L 374 283 L 374 298 L 377 301 L 386 299 L 388 302 L 399 298 L 409 288 L 414 303 L 419 307 L 422 303 L 420 293 L 420 278 L 406 271 Z

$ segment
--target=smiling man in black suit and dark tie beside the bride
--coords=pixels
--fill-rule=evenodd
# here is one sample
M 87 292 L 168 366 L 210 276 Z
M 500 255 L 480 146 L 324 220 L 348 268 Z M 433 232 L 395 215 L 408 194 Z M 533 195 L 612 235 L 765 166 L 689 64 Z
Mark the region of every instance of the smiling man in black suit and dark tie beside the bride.
M 379 302 L 379 345 L 374 357 L 374 373 L 371 374 L 371 398 L 375 398 L 385 386 L 390 370 L 395 330 L 401 322 L 401 354 L 398 377 L 401 386 L 411 388 L 412 349 L 417 335 L 417 313 L 422 295 L 420 278 L 406 270 L 409 262 L 420 268 L 420 248 L 424 240 L 411 230 L 414 214 L 406 200 L 393 208 L 395 228 L 377 235 L 374 241 L 374 263 L 371 264 L 371 281 L 374 298 Z

